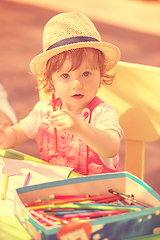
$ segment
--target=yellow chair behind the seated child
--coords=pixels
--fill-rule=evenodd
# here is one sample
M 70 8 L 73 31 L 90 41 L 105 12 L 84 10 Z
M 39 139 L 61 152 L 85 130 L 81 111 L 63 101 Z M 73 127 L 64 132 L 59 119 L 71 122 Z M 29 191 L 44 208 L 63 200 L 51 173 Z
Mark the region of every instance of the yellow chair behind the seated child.
M 119 115 L 126 140 L 125 170 L 144 179 L 145 142 L 160 138 L 160 68 L 119 62 L 111 86 L 98 96 Z M 40 99 L 49 98 L 40 91 Z

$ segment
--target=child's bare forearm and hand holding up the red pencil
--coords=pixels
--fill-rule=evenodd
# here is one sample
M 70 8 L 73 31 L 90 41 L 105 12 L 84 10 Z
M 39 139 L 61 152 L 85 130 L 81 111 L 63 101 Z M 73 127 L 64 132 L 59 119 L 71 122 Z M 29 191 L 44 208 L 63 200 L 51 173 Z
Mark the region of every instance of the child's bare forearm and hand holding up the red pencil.
M 95 128 L 67 110 L 56 111 L 51 118 L 53 127 L 77 135 L 101 157 L 111 158 L 119 152 L 120 136 L 117 131 Z

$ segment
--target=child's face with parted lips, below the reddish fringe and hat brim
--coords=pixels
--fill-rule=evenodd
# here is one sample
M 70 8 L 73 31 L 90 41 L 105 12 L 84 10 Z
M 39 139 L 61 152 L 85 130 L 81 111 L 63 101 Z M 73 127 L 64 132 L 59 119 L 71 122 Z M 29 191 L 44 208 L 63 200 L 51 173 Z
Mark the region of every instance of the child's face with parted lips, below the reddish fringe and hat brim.
M 73 71 L 69 71 L 71 61 L 67 58 L 62 68 L 52 74 L 52 81 L 58 96 L 62 100 L 62 108 L 81 112 L 96 96 L 103 77 L 99 69 L 92 69 L 88 60 Z

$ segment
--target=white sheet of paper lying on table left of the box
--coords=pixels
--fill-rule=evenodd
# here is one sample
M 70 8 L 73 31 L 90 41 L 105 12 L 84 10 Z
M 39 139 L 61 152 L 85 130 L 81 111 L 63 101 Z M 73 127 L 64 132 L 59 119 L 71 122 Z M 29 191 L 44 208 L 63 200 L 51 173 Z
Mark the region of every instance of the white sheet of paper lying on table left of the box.
M 66 179 L 72 168 L 0 157 L 0 216 L 14 216 L 15 189 L 23 187 L 27 174 L 29 185 Z M 6 199 L 1 200 L 5 174 L 8 173 Z

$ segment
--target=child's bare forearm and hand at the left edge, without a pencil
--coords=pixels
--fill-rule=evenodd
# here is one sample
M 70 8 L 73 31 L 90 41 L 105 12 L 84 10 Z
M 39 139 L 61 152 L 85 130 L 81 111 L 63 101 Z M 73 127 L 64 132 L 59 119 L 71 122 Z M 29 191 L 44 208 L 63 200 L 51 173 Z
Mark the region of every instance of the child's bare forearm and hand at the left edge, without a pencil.
M 23 132 L 21 125 L 18 123 L 14 126 L 9 127 L 9 122 L 5 121 L 0 126 L 0 148 L 7 149 L 13 148 L 29 138 Z

